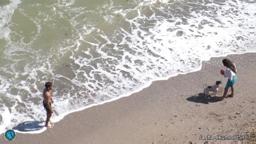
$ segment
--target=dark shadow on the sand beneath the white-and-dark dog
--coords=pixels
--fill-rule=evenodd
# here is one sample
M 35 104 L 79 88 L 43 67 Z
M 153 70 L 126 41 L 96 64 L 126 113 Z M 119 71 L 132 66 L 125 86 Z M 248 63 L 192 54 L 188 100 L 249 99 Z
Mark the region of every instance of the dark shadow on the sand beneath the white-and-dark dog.
M 196 102 L 196 103 L 204 103 L 209 104 L 209 102 L 218 102 L 220 101 L 218 99 L 219 97 L 211 96 L 211 95 L 205 95 L 204 93 L 198 93 L 196 95 L 193 95 L 189 98 L 187 98 L 188 101 Z

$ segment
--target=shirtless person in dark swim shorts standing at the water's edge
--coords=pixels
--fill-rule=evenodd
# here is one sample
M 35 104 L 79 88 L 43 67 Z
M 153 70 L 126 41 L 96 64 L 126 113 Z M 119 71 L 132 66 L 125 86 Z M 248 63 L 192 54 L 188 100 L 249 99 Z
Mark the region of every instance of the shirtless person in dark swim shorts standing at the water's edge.
M 52 116 L 53 110 L 52 110 L 52 103 L 54 102 L 51 96 L 51 89 L 52 89 L 53 85 L 51 82 L 47 82 L 45 83 L 45 89 L 43 91 L 43 105 L 44 108 L 46 110 L 46 122 L 45 122 L 45 127 L 47 128 L 52 128 L 52 126 L 48 125 L 50 122 L 50 118 Z

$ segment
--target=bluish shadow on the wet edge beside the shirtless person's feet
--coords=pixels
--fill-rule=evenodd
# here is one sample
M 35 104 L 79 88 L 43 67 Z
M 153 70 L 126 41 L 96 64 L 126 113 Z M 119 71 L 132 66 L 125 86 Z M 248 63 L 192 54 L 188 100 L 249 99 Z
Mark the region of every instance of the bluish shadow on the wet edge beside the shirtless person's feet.
M 31 131 L 39 131 L 42 130 L 45 122 L 41 121 L 28 121 L 18 124 L 17 126 L 13 127 L 13 130 L 18 130 L 20 132 L 31 132 Z

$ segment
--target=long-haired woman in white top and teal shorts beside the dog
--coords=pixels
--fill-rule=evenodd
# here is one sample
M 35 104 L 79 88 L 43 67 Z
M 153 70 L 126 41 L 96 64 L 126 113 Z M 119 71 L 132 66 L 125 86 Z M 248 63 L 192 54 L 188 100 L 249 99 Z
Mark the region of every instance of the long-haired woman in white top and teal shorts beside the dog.
M 234 84 L 236 83 L 236 80 L 237 80 L 237 76 L 236 76 L 237 71 L 236 71 L 235 64 L 231 62 L 229 59 L 223 59 L 222 63 L 226 67 L 226 70 L 222 75 L 224 75 L 225 77 L 228 77 L 228 82 L 226 84 L 225 91 L 223 93 L 221 100 L 223 100 L 226 97 L 229 87 L 231 87 L 231 94 L 228 95 L 228 97 L 234 96 L 234 90 L 235 90 Z

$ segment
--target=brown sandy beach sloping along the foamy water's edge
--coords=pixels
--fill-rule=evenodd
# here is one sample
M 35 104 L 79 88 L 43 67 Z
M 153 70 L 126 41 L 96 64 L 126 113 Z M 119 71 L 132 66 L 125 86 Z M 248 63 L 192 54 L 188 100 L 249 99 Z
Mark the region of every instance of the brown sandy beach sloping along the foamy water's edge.
M 212 95 L 206 104 L 204 84 L 222 81 L 218 97 L 226 85 L 227 78 L 220 75 L 223 58 L 238 69 L 234 98 L 217 101 Z M 255 62 L 256 53 L 212 58 L 203 61 L 200 71 L 155 81 L 129 97 L 69 114 L 43 133 L 17 133 L 11 142 L 1 134 L 0 143 L 253 143 L 253 135 L 244 141 L 200 138 L 253 133 Z

